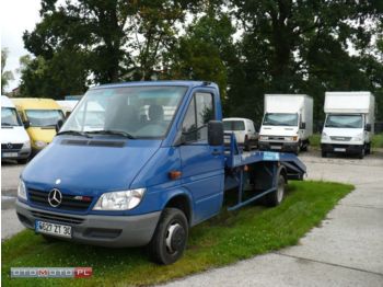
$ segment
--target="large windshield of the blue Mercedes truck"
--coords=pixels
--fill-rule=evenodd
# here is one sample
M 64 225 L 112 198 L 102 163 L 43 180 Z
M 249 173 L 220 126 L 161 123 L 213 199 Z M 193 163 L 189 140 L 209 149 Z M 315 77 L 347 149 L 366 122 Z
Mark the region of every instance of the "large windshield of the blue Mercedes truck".
M 163 137 L 186 90 L 186 87 L 90 90 L 60 131 L 113 130 L 134 138 Z

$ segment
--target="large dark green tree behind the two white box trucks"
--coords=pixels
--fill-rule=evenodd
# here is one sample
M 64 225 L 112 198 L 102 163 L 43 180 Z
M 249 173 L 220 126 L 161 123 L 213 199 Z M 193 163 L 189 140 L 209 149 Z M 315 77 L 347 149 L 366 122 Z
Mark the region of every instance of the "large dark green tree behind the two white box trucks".
M 372 30 L 363 23 L 381 23 L 383 16 L 376 1 L 234 0 L 233 4 L 244 30 L 242 62 L 229 95 L 236 111 L 242 106 L 246 111 L 252 102 L 257 112 L 253 118 L 259 118 L 264 93 L 305 92 L 318 102 L 318 116 L 324 91 L 368 88 L 363 61 L 350 56 L 349 47 L 367 53 Z

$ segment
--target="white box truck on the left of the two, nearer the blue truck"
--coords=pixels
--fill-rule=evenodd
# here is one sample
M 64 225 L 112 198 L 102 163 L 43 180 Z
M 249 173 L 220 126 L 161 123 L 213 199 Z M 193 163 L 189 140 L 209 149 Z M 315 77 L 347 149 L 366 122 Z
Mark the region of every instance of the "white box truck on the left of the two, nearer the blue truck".
M 313 134 L 313 99 L 306 94 L 266 94 L 260 150 L 299 153 Z

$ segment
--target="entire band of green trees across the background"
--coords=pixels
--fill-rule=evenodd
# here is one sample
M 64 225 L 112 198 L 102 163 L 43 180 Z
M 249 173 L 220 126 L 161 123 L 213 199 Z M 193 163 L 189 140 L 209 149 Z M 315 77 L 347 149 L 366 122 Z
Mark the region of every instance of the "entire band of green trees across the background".
M 321 120 L 325 91 L 367 90 L 383 120 L 381 2 L 43 0 L 23 37 L 36 59 L 21 90 L 60 97 L 116 81 L 207 80 L 225 116 L 257 122 L 265 93 L 307 93 Z

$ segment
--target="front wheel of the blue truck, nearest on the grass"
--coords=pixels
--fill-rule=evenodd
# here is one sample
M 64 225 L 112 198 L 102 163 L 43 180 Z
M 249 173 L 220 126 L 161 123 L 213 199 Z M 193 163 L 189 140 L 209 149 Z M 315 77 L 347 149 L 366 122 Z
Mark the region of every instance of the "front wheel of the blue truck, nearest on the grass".
M 177 208 L 165 208 L 148 249 L 152 261 L 169 265 L 184 253 L 188 236 L 186 216 Z

